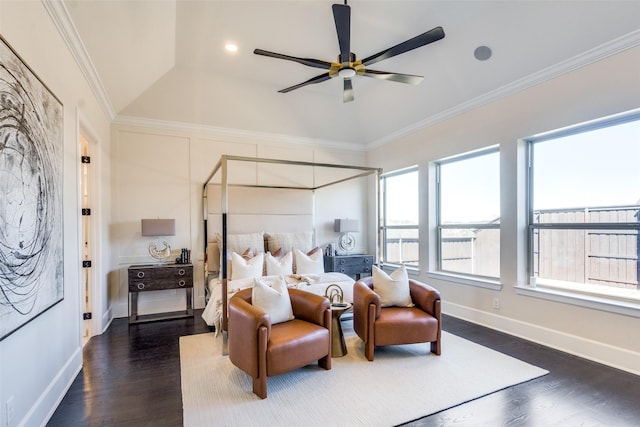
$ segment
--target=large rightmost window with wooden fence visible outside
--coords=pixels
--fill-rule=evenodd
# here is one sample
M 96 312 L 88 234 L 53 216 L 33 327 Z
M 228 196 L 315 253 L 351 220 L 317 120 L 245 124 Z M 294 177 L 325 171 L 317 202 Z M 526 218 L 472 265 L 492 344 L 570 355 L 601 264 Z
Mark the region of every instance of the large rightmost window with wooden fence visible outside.
M 528 146 L 529 271 L 537 284 L 640 298 L 640 115 Z

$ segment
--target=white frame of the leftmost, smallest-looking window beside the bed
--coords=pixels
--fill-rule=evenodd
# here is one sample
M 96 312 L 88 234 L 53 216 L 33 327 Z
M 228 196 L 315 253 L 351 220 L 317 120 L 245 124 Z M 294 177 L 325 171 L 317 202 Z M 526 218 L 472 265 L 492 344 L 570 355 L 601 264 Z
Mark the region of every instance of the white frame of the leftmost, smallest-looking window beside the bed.
M 380 258 L 382 266 L 389 267 L 399 267 L 401 264 L 393 263 L 387 261 L 387 231 L 388 230 L 416 230 L 418 232 L 418 260 L 417 265 L 406 264 L 407 270 L 410 272 L 416 273 L 420 270 L 420 212 L 418 205 L 418 222 L 415 225 L 388 225 L 388 215 L 387 215 L 387 179 L 397 177 L 400 175 L 405 175 L 409 173 L 415 172 L 417 174 L 418 181 L 418 194 L 416 194 L 416 198 L 419 200 L 420 196 L 420 169 L 418 165 L 409 166 L 403 169 L 398 169 L 395 171 L 391 171 L 385 174 L 380 175 L 380 227 L 379 227 L 379 235 L 380 235 Z

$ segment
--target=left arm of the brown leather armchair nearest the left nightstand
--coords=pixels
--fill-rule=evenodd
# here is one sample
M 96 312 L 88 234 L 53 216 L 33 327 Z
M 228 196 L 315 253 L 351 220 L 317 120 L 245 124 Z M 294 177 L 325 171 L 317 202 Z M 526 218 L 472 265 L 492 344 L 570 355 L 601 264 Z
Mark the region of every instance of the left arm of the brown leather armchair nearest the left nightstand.
M 263 349 L 258 348 L 260 329 L 266 332 L 267 338 Z M 237 294 L 229 300 L 229 359 L 234 365 L 257 377 L 258 355 L 266 351 L 270 334 L 271 318 L 267 313 Z

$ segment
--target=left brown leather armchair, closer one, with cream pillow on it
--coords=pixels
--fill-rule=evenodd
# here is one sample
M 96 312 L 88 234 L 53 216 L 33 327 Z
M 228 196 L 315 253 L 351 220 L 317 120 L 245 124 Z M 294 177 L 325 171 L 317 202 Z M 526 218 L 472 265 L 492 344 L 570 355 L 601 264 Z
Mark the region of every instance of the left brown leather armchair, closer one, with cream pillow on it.
M 267 397 L 267 377 L 318 361 L 331 369 L 331 307 L 325 297 L 289 289 L 295 319 L 271 324 L 251 305 L 251 288 L 229 300 L 229 359 L 253 378 L 253 392 Z

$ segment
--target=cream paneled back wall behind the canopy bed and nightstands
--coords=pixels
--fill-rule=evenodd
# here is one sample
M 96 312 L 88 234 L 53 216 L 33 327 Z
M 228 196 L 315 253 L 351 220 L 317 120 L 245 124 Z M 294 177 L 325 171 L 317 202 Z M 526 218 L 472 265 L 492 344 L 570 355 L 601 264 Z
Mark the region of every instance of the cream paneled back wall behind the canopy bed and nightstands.
M 202 186 L 222 154 L 338 163 L 362 166 L 364 152 L 326 149 L 309 144 L 276 143 L 256 140 L 255 136 L 219 135 L 216 131 L 175 126 L 154 126 L 132 119 L 116 120 L 112 126 L 113 203 L 110 245 L 112 249 L 110 300 L 115 317 L 128 313 L 127 268 L 149 263 L 149 240 L 140 235 L 142 218 L 175 218 L 176 235 L 169 237 L 172 249 L 191 249 L 194 263 L 195 307 L 204 307 L 204 225 Z M 256 165 L 233 168 L 230 176 L 242 183 L 255 183 L 259 174 L 268 173 Z M 262 168 L 262 169 L 261 169 Z M 302 182 L 313 179 L 300 169 Z M 338 171 L 337 173 L 341 173 Z M 288 178 L 287 178 L 288 179 Z M 317 177 L 317 179 L 321 179 Z M 312 181 L 313 182 L 313 181 Z M 334 218 L 362 218 L 367 226 L 367 184 L 363 180 L 338 185 L 316 193 L 317 243 L 336 241 Z M 248 229 L 247 229 L 248 230 Z M 252 230 L 269 231 L 269 230 Z M 362 251 L 373 251 L 375 242 L 361 238 Z M 372 247 L 369 247 L 372 246 Z M 184 310 L 185 293 L 167 290 L 139 296 L 140 314 Z

